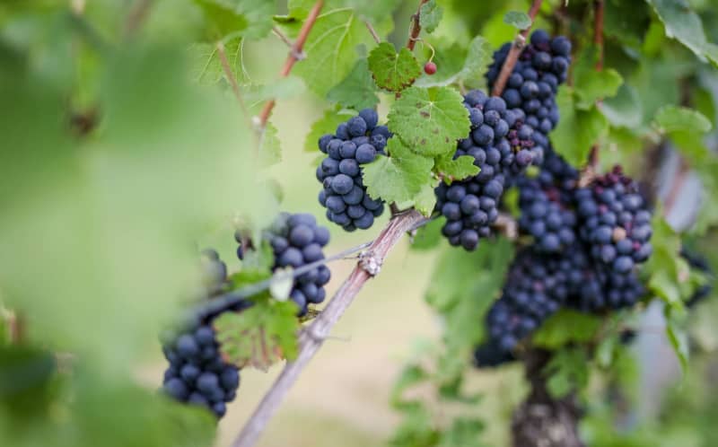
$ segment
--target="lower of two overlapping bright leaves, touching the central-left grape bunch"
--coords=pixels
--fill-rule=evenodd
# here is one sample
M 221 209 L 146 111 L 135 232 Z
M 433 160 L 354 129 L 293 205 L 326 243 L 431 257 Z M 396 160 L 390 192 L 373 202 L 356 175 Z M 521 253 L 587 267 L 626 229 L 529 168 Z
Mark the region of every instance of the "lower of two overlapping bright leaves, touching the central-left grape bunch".
M 422 187 L 431 182 L 433 160 L 412 153 L 398 138 L 387 143 L 390 156 L 380 155 L 363 166 L 363 180 L 372 198 L 389 203 L 412 202 Z

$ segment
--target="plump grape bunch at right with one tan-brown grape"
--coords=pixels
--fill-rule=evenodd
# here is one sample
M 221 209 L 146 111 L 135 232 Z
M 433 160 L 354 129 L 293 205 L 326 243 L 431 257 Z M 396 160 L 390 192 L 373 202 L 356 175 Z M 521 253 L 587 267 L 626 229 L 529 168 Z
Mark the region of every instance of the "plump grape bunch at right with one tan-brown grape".
M 651 213 L 635 182 L 620 166 L 574 194 L 579 215 L 579 237 L 593 259 L 617 275 L 629 275 L 636 264 L 651 256 Z

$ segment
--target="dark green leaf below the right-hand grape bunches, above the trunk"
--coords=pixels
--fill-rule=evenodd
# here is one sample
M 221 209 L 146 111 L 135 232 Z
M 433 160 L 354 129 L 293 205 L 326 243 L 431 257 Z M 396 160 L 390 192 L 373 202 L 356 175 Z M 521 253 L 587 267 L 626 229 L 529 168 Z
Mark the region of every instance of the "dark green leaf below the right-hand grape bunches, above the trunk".
M 569 343 L 590 341 L 600 329 L 595 315 L 564 309 L 546 320 L 531 338 L 535 346 L 556 349 Z

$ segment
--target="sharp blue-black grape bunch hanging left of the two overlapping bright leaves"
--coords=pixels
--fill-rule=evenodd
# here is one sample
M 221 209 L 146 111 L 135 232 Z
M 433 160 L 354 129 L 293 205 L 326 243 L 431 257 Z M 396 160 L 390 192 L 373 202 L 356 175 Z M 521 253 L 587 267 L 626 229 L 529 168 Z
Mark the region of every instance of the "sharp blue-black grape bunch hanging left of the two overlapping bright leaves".
M 389 128 L 378 126 L 379 116 L 364 109 L 337 127 L 335 135 L 321 136 L 320 151 L 328 156 L 317 167 L 317 180 L 323 185 L 320 204 L 327 208 L 327 218 L 347 232 L 372 226 L 374 218 L 384 212 L 381 200 L 366 192 L 362 165 L 373 162 L 391 137 Z

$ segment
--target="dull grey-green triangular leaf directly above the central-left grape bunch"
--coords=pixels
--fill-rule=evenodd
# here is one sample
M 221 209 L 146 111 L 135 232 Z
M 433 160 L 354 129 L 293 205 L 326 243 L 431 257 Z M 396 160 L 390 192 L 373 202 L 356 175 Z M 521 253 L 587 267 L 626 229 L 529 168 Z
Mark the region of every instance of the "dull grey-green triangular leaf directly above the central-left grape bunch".
M 369 72 L 366 59 L 356 61 L 351 73 L 327 93 L 329 101 L 337 102 L 347 109 L 373 109 L 379 103 L 376 95 L 376 84 Z

